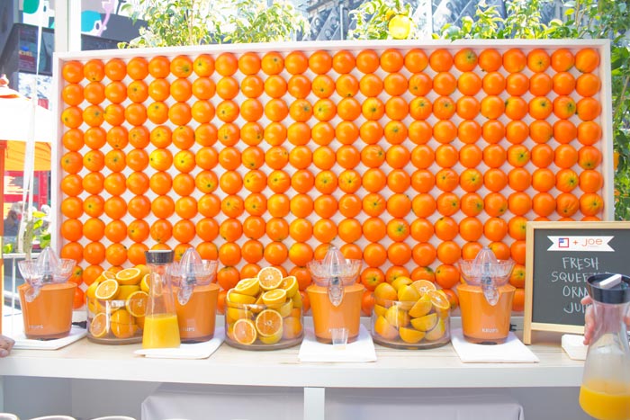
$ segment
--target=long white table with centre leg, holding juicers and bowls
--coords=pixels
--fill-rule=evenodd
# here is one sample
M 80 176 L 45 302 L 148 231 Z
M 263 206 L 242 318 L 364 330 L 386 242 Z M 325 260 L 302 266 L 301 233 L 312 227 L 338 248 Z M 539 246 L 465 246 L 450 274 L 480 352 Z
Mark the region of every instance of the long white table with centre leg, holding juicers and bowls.
M 82 339 L 57 351 L 15 350 L 0 360 L 4 377 L 180 383 L 236 387 L 285 387 L 303 395 L 304 419 L 323 419 L 332 389 L 553 389 L 581 384 L 583 362 L 571 360 L 560 335 L 540 333 L 531 349 L 539 363 L 463 363 L 451 344 L 402 351 L 376 346 L 373 363 L 300 363 L 299 346 L 247 352 L 222 344 L 204 360 L 148 359 L 139 344 L 109 346 Z M 85 383 L 82 382 L 82 383 Z M 393 391 L 392 391 L 393 392 Z M 4 394 L 6 391 L 4 392 Z M 25 397 L 26 398 L 26 397 Z M 141 402 L 139 400 L 138 404 Z M 577 406 L 577 400 L 572 401 Z

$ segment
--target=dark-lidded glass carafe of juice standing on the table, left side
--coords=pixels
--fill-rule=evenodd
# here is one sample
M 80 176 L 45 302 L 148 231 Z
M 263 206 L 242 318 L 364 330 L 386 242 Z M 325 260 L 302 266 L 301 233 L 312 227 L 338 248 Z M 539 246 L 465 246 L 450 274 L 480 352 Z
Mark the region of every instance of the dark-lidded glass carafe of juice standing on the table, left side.
M 173 251 L 147 251 L 145 255 L 149 270 L 149 289 L 142 348 L 179 347 L 179 325 L 170 273 Z

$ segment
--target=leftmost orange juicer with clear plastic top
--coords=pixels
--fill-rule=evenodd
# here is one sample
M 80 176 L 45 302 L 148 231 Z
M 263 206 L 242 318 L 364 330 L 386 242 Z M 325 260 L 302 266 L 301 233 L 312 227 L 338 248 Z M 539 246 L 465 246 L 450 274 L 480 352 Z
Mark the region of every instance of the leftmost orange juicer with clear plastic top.
M 18 262 L 26 281 L 18 287 L 26 338 L 48 340 L 70 333 L 76 284 L 67 279 L 75 265 L 50 247 L 35 260 Z

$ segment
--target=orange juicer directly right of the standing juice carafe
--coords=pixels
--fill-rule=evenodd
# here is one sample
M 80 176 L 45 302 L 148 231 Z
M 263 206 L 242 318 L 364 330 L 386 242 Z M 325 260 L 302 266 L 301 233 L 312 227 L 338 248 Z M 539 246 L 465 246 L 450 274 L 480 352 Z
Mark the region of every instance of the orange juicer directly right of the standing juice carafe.
M 208 341 L 214 336 L 219 286 L 212 283 L 217 273 L 216 260 L 202 260 L 188 248 L 179 264 L 173 264 L 173 293 L 183 343 Z

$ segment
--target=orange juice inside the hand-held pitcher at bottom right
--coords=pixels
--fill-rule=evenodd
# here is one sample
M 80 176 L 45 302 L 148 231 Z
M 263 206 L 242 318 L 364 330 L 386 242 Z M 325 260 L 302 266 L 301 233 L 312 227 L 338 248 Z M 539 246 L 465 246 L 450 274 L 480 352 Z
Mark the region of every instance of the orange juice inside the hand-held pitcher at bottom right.
M 599 420 L 630 419 L 630 387 L 619 382 L 590 380 L 581 386 L 580 407 Z

